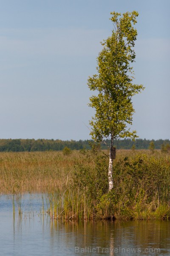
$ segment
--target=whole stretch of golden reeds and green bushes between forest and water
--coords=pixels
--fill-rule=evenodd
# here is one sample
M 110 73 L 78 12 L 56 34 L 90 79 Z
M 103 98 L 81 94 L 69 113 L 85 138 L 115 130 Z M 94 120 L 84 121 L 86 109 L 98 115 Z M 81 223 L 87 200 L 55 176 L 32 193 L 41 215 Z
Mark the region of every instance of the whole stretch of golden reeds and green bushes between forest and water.
M 118 150 L 108 193 L 108 151 L 0 153 L 0 193 L 45 195 L 52 218 L 170 217 L 170 154 Z

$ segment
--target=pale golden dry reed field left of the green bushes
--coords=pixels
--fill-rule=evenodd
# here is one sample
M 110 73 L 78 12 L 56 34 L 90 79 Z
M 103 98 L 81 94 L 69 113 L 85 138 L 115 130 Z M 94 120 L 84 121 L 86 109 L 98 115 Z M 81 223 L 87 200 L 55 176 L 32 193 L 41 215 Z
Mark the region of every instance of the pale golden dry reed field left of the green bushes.
M 78 151 L 64 156 L 60 151 L 0 153 L 0 193 L 45 192 L 68 182 Z

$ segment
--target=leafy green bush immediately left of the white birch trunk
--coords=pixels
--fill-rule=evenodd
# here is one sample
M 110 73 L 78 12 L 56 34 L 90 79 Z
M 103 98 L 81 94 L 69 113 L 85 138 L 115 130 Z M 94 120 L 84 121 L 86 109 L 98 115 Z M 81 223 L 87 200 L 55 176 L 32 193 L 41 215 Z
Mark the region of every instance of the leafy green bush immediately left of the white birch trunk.
M 93 165 L 77 164 L 74 184 L 85 191 L 86 196 L 90 196 L 94 203 L 108 191 L 108 155 L 100 152 L 98 145 L 93 145 L 91 151 L 80 152 L 80 154 L 83 158 L 85 157 L 86 164 L 92 162 Z

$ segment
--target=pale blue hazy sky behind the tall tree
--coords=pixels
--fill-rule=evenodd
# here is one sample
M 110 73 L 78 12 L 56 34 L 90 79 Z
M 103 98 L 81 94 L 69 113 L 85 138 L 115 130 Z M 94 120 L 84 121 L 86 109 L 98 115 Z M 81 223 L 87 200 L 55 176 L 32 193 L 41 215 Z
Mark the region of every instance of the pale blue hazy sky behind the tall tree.
M 110 12 L 139 12 L 132 130 L 170 139 L 169 0 L 0 0 L 0 138 L 91 139 L 88 76 Z

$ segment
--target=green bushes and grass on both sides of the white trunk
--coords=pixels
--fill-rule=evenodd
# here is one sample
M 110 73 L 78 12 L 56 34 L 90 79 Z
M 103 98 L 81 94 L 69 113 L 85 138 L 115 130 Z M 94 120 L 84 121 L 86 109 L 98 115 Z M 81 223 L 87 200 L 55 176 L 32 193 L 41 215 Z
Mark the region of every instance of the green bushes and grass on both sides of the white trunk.
M 146 154 L 114 161 L 114 187 L 108 193 L 107 155 L 86 151 L 92 166 L 76 166 L 74 186 L 95 218 L 147 219 L 170 216 L 169 160 Z M 83 201 L 85 204 L 85 201 Z M 91 212 L 91 215 L 92 215 Z

